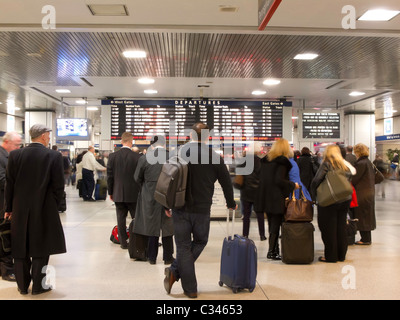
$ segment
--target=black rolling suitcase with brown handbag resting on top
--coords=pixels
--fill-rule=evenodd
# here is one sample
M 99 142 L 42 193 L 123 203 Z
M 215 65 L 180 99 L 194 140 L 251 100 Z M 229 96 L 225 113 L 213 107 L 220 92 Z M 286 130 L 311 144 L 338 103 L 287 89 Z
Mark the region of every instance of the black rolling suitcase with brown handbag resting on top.
M 282 224 L 282 262 L 309 264 L 314 261 L 314 225 L 310 222 Z

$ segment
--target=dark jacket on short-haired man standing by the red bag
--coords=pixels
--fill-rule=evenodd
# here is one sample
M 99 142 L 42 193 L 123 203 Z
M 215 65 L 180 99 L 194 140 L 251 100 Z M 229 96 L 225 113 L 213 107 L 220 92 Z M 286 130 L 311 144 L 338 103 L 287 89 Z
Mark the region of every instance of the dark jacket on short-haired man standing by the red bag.
M 134 179 L 140 154 L 129 148 L 110 153 L 107 163 L 108 194 L 114 202 L 137 202 L 140 186 Z

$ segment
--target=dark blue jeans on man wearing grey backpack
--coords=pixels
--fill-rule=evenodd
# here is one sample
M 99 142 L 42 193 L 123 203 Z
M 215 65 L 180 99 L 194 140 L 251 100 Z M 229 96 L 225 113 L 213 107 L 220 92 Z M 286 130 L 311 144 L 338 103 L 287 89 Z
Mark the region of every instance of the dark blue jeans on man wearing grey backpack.
M 197 292 L 194 263 L 207 245 L 210 232 L 210 214 L 172 212 L 176 244 L 176 260 L 170 269 L 182 289 L 187 293 Z M 192 239 L 193 235 L 193 239 Z

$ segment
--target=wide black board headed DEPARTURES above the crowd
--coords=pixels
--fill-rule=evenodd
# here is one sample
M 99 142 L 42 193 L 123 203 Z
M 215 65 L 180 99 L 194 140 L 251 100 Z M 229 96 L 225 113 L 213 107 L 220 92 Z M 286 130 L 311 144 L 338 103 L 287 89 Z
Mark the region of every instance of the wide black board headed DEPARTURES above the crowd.
M 272 141 L 282 137 L 283 108 L 291 102 L 220 100 L 102 100 L 111 105 L 111 139 L 125 131 L 135 140 L 156 133 L 185 140 L 192 125 L 207 123 L 212 137 Z

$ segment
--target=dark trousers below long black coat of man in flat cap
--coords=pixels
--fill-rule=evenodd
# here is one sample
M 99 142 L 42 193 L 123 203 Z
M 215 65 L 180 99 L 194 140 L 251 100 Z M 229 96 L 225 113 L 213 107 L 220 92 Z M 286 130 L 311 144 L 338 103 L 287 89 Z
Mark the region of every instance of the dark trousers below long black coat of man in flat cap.
M 27 291 L 32 280 L 32 291 L 42 289 L 42 281 L 46 277 L 46 267 L 49 263 L 49 256 L 41 258 L 26 257 L 23 259 L 14 259 L 15 278 L 18 288 L 21 291 Z

